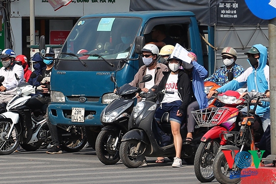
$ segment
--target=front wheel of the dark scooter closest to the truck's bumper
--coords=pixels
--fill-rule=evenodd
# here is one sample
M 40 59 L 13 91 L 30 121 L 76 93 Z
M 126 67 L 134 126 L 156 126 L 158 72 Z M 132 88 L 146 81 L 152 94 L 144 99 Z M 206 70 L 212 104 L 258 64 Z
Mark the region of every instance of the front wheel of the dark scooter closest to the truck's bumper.
M 115 150 L 113 149 L 117 135 L 112 130 L 102 130 L 96 139 L 96 154 L 98 159 L 106 164 L 112 165 L 120 160 L 119 146 L 117 143 Z

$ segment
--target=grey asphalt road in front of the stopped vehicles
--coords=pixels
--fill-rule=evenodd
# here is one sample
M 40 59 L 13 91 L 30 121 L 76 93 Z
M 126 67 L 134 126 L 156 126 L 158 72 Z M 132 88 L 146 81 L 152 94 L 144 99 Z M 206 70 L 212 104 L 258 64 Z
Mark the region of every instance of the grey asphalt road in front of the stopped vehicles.
M 172 161 L 127 168 L 121 161 L 102 164 L 92 148 L 77 153 L 46 154 L 46 149 L 0 156 L 0 184 L 200 184 L 193 165 L 172 168 Z M 213 181 L 208 184 L 218 184 Z

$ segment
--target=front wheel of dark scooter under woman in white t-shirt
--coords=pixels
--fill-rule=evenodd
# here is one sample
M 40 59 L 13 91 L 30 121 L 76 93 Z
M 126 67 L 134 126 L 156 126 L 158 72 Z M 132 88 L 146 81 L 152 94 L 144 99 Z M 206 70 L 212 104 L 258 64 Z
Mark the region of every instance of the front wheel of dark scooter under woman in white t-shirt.
M 136 139 L 121 143 L 120 158 L 125 166 L 137 168 L 145 159 L 146 144 Z

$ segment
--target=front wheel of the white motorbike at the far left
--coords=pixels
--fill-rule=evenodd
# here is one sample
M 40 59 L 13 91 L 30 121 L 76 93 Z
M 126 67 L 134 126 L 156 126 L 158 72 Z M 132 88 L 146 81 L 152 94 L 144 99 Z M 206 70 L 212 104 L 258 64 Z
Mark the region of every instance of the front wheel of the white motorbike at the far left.
M 18 124 L 13 127 L 10 136 L 7 138 L 11 130 L 12 123 L 8 121 L 0 122 L 0 155 L 8 155 L 13 153 L 20 143 L 21 129 Z

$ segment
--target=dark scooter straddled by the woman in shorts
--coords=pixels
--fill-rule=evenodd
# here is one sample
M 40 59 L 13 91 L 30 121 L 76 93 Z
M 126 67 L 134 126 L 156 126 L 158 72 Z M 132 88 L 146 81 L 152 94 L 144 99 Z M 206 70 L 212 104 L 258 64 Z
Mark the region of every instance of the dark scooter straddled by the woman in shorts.
M 120 158 L 124 165 L 136 168 L 142 165 L 145 157 L 168 157 L 173 160 L 175 147 L 169 123 L 169 114 L 165 113 L 159 125 L 155 120 L 158 95 L 169 92 L 148 92 L 145 100 L 139 102 L 129 120 L 129 132 L 121 139 Z M 161 126 L 161 127 L 160 127 Z M 200 139 L 207 132 L 205 127 L 195 127 L 193 142 L 183 142 L 181 158 L 187 163 L 193 163 Z M 181 136 L 185 140 L 187 130 L 181 126 Z M 168 138 L 169 137 L 169 138 Z

